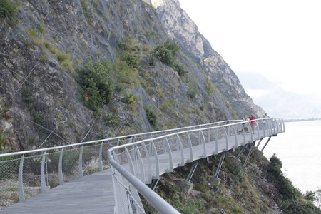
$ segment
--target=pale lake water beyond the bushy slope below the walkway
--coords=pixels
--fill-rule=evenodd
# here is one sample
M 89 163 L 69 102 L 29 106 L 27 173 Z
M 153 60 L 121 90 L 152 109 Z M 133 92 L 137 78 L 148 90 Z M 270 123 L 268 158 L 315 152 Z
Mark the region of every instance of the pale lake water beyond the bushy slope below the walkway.
M 263 153 L 277 155 L 285 177 L 302 193 L 321 188 L 321 121 L 285 123 L 285 133 L 272 137 Z

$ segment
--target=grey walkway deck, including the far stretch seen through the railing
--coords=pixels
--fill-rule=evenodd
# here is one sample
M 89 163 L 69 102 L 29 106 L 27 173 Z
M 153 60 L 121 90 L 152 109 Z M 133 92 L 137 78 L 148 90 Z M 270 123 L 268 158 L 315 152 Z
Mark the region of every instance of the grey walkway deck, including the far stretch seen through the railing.
M 260 133 L 262 136 L 262 133 Z M 247 136 L 249 138 L 250 136 Z M 228 137 L 228 141 L 238 141 L 237 146 L 244 144 L 243 135 Z M 246 141 L 249 143 L 250 141 Z M 216 152 L 221 153 L 226 151 L 226 138 L 218 141 L 218 151 L 215 151 L 215 141 L 206 143 L 207 154 L 211 156 Z M 228 143 L 228 149 L 236 147 L 235 143 Z M 190 158 L 190 149 L 185 148 L 184 163 L 191 162 L 204 157 L 204 146 L 193 146 L 193 160 Z M 173 152 L 173 168 L 181 165 L 180 151 Z M 160 175 L 165 173 L 169 168 L 168 153 L 158 156 L 160 163 Z M 153 162 L 153 161 L 151 161 Z M 184 164 L 183 163 L 183 164 Z M 152 163 L 152 174 L 155 175 L 155 163 Z M 128 164 L 123 165 L 128 168 Z M 148 167 L 144 161 L 144 167 Z M 128 169 L 129 170 L 129 169 Z M 11 205 L 4 210 L 3 213 L 114 213 L 114 196 L 113 196 L 113 183 L 111 178 L 111 170 L 104 170 L 100 173 L 84 176 L 77 180 L 73 180 L 64 185 L 60 185 L 52 190 L 36 195 L 21 203 Z

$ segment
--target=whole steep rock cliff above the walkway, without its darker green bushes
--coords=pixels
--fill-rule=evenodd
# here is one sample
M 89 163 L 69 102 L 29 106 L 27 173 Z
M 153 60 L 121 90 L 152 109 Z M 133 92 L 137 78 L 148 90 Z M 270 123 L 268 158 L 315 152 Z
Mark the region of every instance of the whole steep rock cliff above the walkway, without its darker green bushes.
M 27 0 L 16 19 L 19 22 L 0 19 L 0 126 L 8 137 L 6 149 L 264 113 L 178 1 Z M 175 61 L 187 71 L 185 76 L 175 66 L 151 63 L 156 45 L 167 39 L 180 46 Z M 124 53 L 135 54 L 138 61 L 127 74 L 121 73 L 128 66 Z M 107 59 L 114 71 L 116 91 L 98 111 L 83 105 L 86 96 L 77 82 L 78 70 L 88 59 Z M 132 103 L 124 101 L 126 97 Z M 146 112 L 153 112 L 155 123 Z

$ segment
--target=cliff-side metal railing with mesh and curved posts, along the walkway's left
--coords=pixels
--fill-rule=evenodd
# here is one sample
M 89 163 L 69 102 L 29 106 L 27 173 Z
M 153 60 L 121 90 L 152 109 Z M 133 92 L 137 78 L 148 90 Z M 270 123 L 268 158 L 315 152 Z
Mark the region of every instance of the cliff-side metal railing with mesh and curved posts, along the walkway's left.
M 113 146 L 156 138 L 187 129 L 221 126 L 221 121 L 139 133 L 116 138 L 74 143 L 53 148 L 0 154 L 0 209 L 71 180 L 109 168 L 106 152 Z

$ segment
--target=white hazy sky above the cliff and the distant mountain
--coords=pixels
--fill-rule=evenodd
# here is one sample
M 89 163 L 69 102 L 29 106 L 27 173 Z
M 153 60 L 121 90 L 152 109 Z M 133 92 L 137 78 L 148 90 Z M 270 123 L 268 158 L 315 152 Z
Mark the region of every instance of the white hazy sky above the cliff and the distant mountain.
M 320 0 L 179 0 L 235 73 L 321 95 Z

